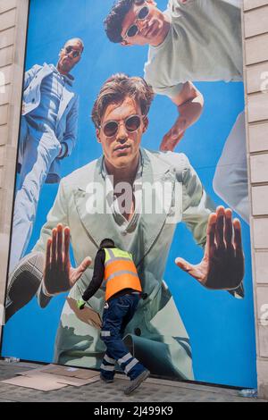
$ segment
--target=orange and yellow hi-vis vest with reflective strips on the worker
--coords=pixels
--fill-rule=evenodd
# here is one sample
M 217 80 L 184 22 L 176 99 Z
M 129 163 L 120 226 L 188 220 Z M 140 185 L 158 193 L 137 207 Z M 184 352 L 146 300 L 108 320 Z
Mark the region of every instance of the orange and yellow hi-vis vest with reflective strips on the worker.
M 105 290 L 105 301 L 123 289 L 141 291 L 136 265 L 127 251 L 119 248 L 105 249 L 105 279 L 102 289 Z

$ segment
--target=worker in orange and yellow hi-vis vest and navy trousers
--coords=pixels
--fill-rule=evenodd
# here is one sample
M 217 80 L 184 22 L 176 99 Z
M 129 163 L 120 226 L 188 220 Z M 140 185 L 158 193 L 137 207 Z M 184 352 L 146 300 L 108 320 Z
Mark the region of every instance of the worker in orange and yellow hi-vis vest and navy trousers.
M 96 253 L 94 273 L 88 289 L 77 306 L 83 309 L 89 298 L 102 288 L 105 290 L 105 309 L 101 339 L 105 342 L 106 353 L 101 365 L 100 377 L 113 382 L 114 365 L 117 362 L 130 377 L 126 395 L 138 388 L 150 372 L 133 357 L 122 341 L 124 330 L 138 307 L 142 293 L 137 268 L 129 252 L 115 247 L 113 239 L 104 239 Z

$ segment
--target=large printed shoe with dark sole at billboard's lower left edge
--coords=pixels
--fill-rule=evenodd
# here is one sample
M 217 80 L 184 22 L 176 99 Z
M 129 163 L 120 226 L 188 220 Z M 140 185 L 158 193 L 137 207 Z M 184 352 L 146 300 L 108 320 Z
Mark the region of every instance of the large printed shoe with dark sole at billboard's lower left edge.
M 6 293 L 5 322 L 21 307 L 25 307 L 37 294 L 43 277 L 45 256 L 42 252 L 32 252 L 21 259 L 9 276 Z

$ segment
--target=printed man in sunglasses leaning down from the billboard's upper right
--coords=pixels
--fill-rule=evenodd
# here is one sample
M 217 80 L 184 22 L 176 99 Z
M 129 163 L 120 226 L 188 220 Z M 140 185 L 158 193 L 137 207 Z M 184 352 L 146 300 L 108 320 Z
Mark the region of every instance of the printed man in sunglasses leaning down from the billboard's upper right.
M 169 97 L 180 113 L 163 137 L 174 150 L 197 122 L 204 99 L 197 81 L 242 81 L 241 0 L 117 0 L 105 19 L 107 37 L 121 46 L 149 46 L 145 79 Z M 214 190 L 245 221 L 249 219 L 245 114 L 230 132 L 214 175 Z

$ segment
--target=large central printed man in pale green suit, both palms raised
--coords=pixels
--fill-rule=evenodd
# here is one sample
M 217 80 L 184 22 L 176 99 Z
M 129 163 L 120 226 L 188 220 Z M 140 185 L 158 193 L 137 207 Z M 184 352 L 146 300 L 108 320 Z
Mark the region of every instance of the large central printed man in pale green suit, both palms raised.
M 178 258 L 181 269 L 208 289 L 243 296 L 240 223 L 232 221 L 230 209 L 221 206 L 214 212 L 186 155 L 140 147 L 153 97 L 152 88 L 142 78 L 116 74 L 105 82 L 92 112 L 103 156 L 61 181 L 28 264 L 33 265 L 31 273 L 35 270 L 40 281 L 40 307 L 46 307 L 54 295 L 70 290 L 57 332 L 54 362 L 100 367 L 105 354 L 100 340 L 105 292 L 98 290 L 89 299 L 84 311 L 88 309 L 85 314 L 91 313 L 91 318 L 82 317 L 84 311 L 75 311 L 75 307 L 93 276 L 91 256 L 96 255 L 104 237 L 113 238 L 134 257 L 142 290 L 147 293 L 126 327 L 124 343 L 152 374 L 191 380 L 188 333 L 163 281 L 174 231 L 177 223 L 187 223 L 197 244 L 205 248 L 199 265 Z M 158 188 L 149 194 L 148 186 L 155 183 Z M 128 186 L 131 194 L 125 206 L 122 189 Z M 148 196 L 155 206 L 148 206 Z M 71 266 L 70 242 L 77 268 Z M 31 290 L 32 296 L 36 291 Z

